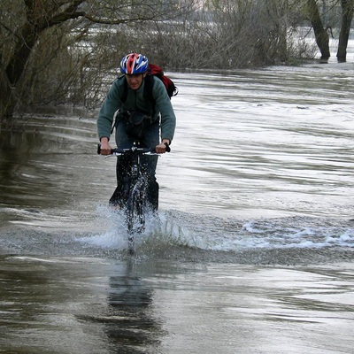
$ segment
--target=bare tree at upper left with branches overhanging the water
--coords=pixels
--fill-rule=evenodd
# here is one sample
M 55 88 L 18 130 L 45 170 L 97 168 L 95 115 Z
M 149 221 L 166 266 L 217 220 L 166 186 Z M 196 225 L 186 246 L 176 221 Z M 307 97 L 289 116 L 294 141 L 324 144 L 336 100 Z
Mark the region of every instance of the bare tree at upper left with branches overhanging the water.
M 17 104 L 30 103 L 41 94 L 39 74 L 45 76 L 49 65 L 69 66 L 58 70 L 62 78 L 53 85 L 57 95 L 73 86 L 71 73 L 79 73 L 82 81 L 87 80 L 93 64 L 92 50 L 101 50 L 103 44 L 98 41 L 103 38 L 100 32 L 104 26 L 172 19 L 183 7 L 178 0 L 0 2 L 0 121 L 11 118 Z M 86 50 L 82 48 L 85 42 L 89 47 Z M 59 75 L 52 81 L 57 79 Z

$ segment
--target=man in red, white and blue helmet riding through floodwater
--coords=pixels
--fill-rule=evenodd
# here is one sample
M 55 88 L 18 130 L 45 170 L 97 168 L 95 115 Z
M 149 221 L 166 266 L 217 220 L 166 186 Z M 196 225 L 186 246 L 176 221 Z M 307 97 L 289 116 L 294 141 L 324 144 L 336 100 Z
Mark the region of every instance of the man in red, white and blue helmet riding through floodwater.
M 156 152 L 165 153 L 166 145 L 168 146 L 172 142 L 176 118 L 165 85 L 158 78 L 150 75 L 152 85 L 149 85 L 149 88 L 152 90 L 152 103 L 146 94 L 144 95 L 148 67 L 148 58 L 142 54 L 130 53 L 121 59 L 120 73 L 125 74 L 125 80 L 119 78 L 112 83 L 97 119 L 97 132 L 102 155 L 110 154 L 110 136 L 115 114 L 115 140 L 119 149 L 130 148 L 136 140 L 134 135 L 127 133 L 127 119 L 131 112 L 150 116 L 142 136 L 139 138 L 143 148 L 156 146 Z M 146 87 L 148 88 L 148 85 Z M 158 182 L 155 177 L 157 164 L 157 156 L 142 157 L 142 165 L 148 179 L 147 199 L 153 211 L 158 210 Z M 129 161 L 126 158 L 118 157 L 117 188 L 110 199 L 110 204 L 113 206 L 124 206 L 123 183 L 129 171 Z

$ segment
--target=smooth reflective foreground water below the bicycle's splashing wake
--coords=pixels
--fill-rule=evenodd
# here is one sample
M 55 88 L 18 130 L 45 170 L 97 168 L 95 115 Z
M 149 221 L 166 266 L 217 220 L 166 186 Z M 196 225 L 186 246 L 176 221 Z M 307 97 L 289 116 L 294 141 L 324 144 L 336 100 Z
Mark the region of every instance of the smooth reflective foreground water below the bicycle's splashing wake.
M 0 350 L 350 353 L 353 276 L 352 264 L 2 257 Z

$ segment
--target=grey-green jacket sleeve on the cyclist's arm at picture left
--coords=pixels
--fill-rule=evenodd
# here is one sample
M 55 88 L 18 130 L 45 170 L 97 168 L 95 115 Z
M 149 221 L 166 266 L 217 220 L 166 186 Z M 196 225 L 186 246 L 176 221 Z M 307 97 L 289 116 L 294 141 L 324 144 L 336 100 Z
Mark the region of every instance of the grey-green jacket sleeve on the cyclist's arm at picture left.
M 119 85 L 119 79 L 116 79 L 108 91 L 107 96 L 104 99 L 104 104 L 98 113 L 97 119 L 97 133 L 98 138 L 106 136 L 110 139 L 114 113 L 117 112 L 121 106 L 121 85 Z

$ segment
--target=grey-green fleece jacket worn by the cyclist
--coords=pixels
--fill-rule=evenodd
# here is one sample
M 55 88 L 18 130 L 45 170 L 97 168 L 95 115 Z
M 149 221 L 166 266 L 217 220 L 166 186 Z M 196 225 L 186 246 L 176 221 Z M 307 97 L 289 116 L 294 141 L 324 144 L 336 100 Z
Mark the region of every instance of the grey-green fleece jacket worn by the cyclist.
M 124 111 L 139 111 L 150 114 L 150 103 L 143 96 L 144 81 L 142 86 L 133 90 L 128 88 L 127 100 L 123 104 L 121 97 L 124 94 L 125 80 L 123 78 L 116 79 L 108 91 L 104 99 L 97 119 L 97 132 L 98 138 L 106 136 L 110 138 L 112 131 L 112 123 L 114 113 L 119 109 Z M 170 142 L 173 140 L 174 129 L 176 126 L 176 117 L 173 112 L 171 100 L 167 95 L 165 85 L 157 77 L 153 77 L 152 96 L 155 101 L 155 117 L 158 114 L 161 116 L 161 140 L 168 139 Z

